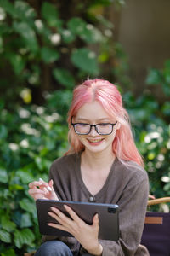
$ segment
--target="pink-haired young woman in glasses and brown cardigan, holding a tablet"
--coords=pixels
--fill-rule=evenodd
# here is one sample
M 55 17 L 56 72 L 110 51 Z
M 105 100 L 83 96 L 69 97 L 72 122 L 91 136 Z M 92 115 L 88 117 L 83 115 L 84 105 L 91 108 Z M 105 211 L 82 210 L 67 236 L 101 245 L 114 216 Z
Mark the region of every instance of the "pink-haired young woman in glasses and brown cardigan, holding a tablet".
M 139 246 L 149 194 L 148 177 L 116 86 L 102 79 L 78 85 L 73 91 L 68 124 L 71 148 L 52 164 L 49 183 L 32 182 L 29 193 L 35 200 L 119 205 L 120 239 L 99 241 L 98 215 L 88 225 L 70 207 L 65 209 L 72 220 L 53 208 L 48 214 L 59 224 L 49 225 L 74 237 L 45 236 L 35 255 L 149 255 L 145 247 Z

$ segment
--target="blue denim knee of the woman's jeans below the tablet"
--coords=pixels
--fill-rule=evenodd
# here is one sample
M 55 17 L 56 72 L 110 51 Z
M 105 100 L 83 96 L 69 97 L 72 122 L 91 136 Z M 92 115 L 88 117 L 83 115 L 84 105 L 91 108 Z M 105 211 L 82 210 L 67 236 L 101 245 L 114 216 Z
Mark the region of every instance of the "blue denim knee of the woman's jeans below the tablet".
M 46 241 L 37 249 L 34 256 L 73 256 L 73 254 L 62 241 Z

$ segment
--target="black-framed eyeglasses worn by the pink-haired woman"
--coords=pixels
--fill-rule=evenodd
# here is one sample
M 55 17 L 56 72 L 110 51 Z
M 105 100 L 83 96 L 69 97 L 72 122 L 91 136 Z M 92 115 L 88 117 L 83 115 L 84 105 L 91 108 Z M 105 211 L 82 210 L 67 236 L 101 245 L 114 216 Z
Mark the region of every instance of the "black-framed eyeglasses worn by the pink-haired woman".
M 86 123 L 72 123 L 71 121 L 71 125 L 74 127 L 74 131 L 79 135 L 89 134 L 90 131 L 92 130 L 92 127 L 95 128 L 95 131 L 97 131 L 99 135 L 109 135 L 112 133 L 113 126 L 115 126 L 116 123 L 115 124 L 103 123 L 103 124 L 97 124 L 97 125 L 90 125 Z

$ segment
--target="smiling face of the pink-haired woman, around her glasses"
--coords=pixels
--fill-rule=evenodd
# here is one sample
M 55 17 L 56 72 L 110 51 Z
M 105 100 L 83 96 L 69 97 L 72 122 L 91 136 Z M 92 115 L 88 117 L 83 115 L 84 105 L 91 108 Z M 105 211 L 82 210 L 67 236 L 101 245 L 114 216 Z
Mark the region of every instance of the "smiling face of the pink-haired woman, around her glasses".
M 73 123 L 85 123 L 90 125 L 116 123 L 116 119 L 111 119 L 105 112 L 105 109 L 96 101 L 84 104 L 82 108 L 78 110 L 76 117 L 72 121 Z M 95 131 L 95 128 L 92 127 L 88 135 L 77 135 L 77 137 L 85 146 L 85 150 L 91 153 L 112 153 L 112 142 L 116 136 L 117 129 L 118 124 L 113 126 L 113 131 L 110 135 L 99 135 L 99 133 Z

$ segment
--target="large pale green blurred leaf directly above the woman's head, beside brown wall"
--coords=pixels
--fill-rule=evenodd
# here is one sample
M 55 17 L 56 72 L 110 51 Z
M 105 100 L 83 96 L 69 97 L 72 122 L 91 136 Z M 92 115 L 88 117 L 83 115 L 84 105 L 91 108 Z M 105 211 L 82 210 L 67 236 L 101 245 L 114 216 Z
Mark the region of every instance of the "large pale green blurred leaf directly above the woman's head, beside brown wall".
M 93 75 L 99 74 L 96 55 L 93 51 L 87 48 L 74 50 L 71 54 L 71 61 L 76 67 L 82 69 L 85 73 Z

